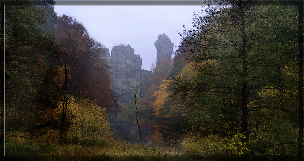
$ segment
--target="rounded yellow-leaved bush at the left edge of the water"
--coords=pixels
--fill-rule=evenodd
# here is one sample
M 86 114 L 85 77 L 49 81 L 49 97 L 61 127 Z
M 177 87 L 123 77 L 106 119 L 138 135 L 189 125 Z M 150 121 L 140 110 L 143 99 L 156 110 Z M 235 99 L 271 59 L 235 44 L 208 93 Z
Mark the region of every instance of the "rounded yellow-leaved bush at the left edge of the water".
M 60 121 L 62 105 L 56 109 Z M 67 109 L 65 139 L 73 144 L 90 145 L 103 142 L 111 137 L 105 109 L 88 99 L 71 99 Z

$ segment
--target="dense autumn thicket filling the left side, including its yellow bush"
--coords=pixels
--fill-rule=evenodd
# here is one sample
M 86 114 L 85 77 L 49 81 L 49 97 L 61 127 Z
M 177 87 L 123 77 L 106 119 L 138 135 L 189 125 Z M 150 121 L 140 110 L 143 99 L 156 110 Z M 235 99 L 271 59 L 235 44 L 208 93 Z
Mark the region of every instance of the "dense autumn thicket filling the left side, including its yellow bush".
M 101 135 L 108 136 L 110 131 L 105 115 L 117 112 L 119 106 L 110 89 L 104 47 L 76 19 L 57 17 L 52 4 L 7 1 L 1 12 L 5 16 L 1 21 L 5 28 L 5 67 L 1 68 L 5 71 L 5 107 L 1 106 L 5 135 L 32 138 L 52 128 L 59 131 L 60 144 L 105 139 Z M 100 114 L 82 116 L 85 109 Z M 84 133 L 85 126 L 76 128 L 79 131 L 72 128 L 96 119 L 100 119 L 98 124 L 86 128 L 102 129 L 99 133 Z

